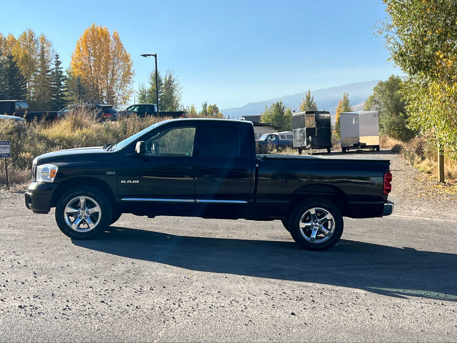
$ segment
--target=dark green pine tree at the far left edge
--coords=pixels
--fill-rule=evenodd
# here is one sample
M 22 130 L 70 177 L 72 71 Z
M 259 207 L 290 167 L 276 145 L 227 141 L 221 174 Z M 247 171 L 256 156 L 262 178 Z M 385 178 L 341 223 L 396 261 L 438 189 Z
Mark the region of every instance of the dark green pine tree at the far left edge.
M 21 70 L 13 58 L 13 55 L 6 56 L 3 65 L 3 75 L 5 75 L 6 82 L 4 82 L 3 98 L 23 100 L 27 97 L 27 79 L 22 75 Z M 3 77 L 2 77 L 3 78 Z

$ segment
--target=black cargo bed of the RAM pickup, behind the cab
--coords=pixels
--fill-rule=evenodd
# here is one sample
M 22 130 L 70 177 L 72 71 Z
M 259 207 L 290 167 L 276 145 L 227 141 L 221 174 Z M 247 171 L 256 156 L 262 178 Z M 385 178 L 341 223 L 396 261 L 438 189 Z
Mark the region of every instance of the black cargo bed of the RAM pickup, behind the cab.
M 357 218 L 383 213 L 383 175 L 390 161 L 382 158 L 257 155 L 255 215 L 289 212 L 293 195 L 333 198 L 343 215 Z M 364 202 L 363 208 L 357 204 Z

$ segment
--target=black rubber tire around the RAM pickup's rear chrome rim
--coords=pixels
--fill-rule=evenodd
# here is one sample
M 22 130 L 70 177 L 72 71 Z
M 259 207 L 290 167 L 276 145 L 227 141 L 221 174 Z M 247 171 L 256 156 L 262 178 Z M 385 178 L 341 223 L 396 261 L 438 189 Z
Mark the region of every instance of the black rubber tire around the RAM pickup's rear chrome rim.
M 319 226 L 312 226 L 310 229 L 308 229 L 309 237 L 305 238 L 307 232 L 305 232 L 305 236 L 302 234 L 302 230 L 300 230 L 299 227 L 299 222 L 300 219 L 302 218 L 303 215 L 306 215 L 308 210 L 310 209 L 317 209 L 315 210 L 315 214 L 318 215 L 318 220 L 319 218 L 323 218 L 323 214 L 327 212 L 330 214 L 333 219 L 324 222 L 323 225 L 319 225 L 319 222 L 315 223 L 313 220 L 313 225 L 319 225 Z M 320 217 L 319 217 L 320 215 Z M 304 217 L 304 220 L 307 217 Z M 326 227 L 325 227 L 326 225 Z M 324 231 L 322 230 L 327 230 L 331 231 L 331 225 L 334 225 L 333 228 L 333 233 L 331 236 L 326 238 L 327 236 L 324 234 Z M 343 216 L 341 215 L 340 209 L 333 204 L 331 201 L 324 199 L 324 198 L 311 198 L 309 200 L 303 201 L 302 203 L 298 204 L 295 209 L 292 211 L 292 214 L 290 215 L 289 219 L 289 232 L 294 239 L 301 247 L 307 250 L 325 250 L 330 247 L 333 247 L 336 242 L 339 241 L 341 235 L 343 234 L 343 228 L 344 228 L 344 223 L 343 223 Z M 328 230 L 330 229 L 330 230 Z M 307 230 L 307 229 L 303 229 Z M 310 241 L 309 238 L 311 238 L 311 235 L 315 231 L 315 239 L 316 242 Z M 321 241 L 319 241 L 321 240 Z

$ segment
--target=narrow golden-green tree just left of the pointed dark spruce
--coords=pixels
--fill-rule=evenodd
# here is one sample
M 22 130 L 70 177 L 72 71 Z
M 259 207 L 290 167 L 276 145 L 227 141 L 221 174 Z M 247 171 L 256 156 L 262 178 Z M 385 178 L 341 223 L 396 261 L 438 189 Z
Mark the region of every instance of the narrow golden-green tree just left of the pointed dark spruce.
M 37 108 L 41 111 L 50 110 L 52 107 L 52 75 L 49 68 L 50 61 L 46 57 L 46 51 L 43 45 L 40 47 L 38 60 L 37 75 L 34 78 L 32 100 Z

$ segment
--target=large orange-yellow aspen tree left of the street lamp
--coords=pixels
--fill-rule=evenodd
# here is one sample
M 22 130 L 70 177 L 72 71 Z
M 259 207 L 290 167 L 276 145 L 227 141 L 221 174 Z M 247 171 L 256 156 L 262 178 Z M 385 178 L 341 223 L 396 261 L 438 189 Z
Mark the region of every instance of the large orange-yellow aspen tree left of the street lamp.
M 133 92 L 133 62 L 116 30 L 95 23 L 86 28 L 71 55 L 70 73 L 80 77 L 92 99 L 125 104 Z

